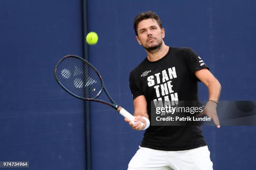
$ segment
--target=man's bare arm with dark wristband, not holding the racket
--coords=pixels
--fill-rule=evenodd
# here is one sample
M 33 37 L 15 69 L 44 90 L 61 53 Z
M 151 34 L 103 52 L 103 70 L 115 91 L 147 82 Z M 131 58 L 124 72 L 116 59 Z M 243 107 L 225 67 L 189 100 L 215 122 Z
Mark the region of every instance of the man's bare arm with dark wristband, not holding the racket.
M 207 86 L 209 91 L 209 101 L 204 107 L 203 114 L 210 117 L 217 128 L 220 128 L 220 122 L 216 112 L 216 107 L 220 98 L 221 85 L 220 82 L 212 75 L 208 69 L 195 71 L 195 76 Z

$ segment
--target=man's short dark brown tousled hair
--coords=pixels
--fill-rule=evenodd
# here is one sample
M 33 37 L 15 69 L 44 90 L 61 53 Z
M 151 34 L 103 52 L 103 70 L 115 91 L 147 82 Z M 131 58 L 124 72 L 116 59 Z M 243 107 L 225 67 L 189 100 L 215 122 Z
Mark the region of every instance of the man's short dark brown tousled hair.
M 156 13 L 153 13 L 151 11 L 146 11 L 145 13 L 138 13 L 138 15 L 134 18 L 134 21 L 133 21 L 133 28 L 135 30 L 136 36 L 138 36 L 138 32 L 137 32 L 138 23 L 141 22 L 142 20 L 146 20 L 146 19 L 149 19 L 149 18 L 151 18 L 153 20 L 156 20 L 159 27 L 161 29 L 163 28 L 161 20 L 160 20 L 159 16 Z

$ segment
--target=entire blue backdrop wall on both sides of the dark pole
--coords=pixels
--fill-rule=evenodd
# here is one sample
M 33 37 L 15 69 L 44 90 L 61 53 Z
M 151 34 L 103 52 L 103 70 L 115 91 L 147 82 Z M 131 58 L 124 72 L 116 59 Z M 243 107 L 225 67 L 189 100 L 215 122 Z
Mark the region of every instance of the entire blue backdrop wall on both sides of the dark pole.
M 133 112 L 129 72 L 146 57 L 133 18 L 161 17 L 169 46 L 193 48 L 222 84 L 221 100 L 256 100 L 254 0 L 88 0 L 88 30 L 99 41 L 89 61 L 113 99 Z M 85 169 L 83 102 L 59 88 L 56 62 L 82 56 L 80 0 L 0 0 L 0 160 L 31 169 Z M 200 99 L 207 99 L 200 84 Z M 225 114 L 225 113 L 223 113 Z M 143 133 L 110 107 L 91 103 L 92 169 L 125 170 Z M 256 127 L 203 127 L 215 170 L 254 169 Z

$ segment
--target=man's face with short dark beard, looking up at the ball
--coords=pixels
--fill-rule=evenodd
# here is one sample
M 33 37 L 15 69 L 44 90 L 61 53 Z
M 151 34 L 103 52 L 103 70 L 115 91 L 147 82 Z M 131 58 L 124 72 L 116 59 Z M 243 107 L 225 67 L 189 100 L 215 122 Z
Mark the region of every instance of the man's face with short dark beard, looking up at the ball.
M 148 51 L 160 48 L 164 38 L 164 28 L 160 28 L 158 23 L 149 18 L 138 23 L 138 43 Z

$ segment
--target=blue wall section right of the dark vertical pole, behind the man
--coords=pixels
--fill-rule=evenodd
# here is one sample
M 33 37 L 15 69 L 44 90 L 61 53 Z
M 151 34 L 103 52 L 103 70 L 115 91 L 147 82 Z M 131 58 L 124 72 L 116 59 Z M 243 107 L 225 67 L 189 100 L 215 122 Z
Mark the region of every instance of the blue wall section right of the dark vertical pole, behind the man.
M 90 47 L 90 61 L 113 98 L 133 112 L 128 76 L 146 57 L 135 39 L 133 19 L 140 11 L 152 10 L 161 17 L 167 45 L 191 47 L 204 59 L 222 84 L 221 100 L 255 100 L 255 9 L 253 0 L 89 0 L 89 30 L 100 37 Z M 207 97 L 207 88 L 200 84 L 200 99 Z M 111 108 L 99 107 L 91 107 L 93 169 L 125 170 L 142 133 L 132 131 Z M 214 169 L 254 169 L 255 131 L 255 127 L 203 127 Z

